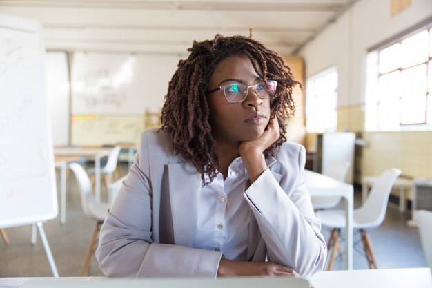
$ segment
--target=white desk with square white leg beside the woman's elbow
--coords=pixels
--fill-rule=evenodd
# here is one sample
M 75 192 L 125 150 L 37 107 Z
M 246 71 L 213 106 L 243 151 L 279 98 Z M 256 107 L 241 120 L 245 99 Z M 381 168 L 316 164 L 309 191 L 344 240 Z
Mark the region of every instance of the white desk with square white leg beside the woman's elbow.
M 334 197 L 340 196 L 345 199 L 346 215 L 346 264 L 347 270 L 353 269 L 353 210 L 354 210 L 354 189 L 353 185 L 334 180 L 309 170 L 304 171 L 306 186 L 311 196 L 315 197 Z

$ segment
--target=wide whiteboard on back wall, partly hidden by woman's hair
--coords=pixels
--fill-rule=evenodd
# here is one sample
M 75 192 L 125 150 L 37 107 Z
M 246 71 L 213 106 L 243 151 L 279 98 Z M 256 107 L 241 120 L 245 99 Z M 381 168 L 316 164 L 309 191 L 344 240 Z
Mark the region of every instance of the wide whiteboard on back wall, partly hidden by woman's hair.
M 179 59 L 177 55 L 75 52 L 70 67 L 72 115 L 160 111 Z

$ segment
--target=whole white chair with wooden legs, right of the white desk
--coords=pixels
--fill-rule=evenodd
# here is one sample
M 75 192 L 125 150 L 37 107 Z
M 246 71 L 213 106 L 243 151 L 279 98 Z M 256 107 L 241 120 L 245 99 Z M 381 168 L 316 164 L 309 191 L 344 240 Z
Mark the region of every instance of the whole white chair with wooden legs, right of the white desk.
M 359 229 L 362 236 L 363 248 L 366 259 L 368 260 L 369 269 L 377 269 L 375 256 L 372 249 L 372 243 L 365 229 L 373 229 L 380 226 L 386 215 L 387 204 L 391 187 L 400 175 L 400 169 L 387 169 L 372 186 L 366 202 L 362 207 L 355 209 L 353 213 L 353 228 Z M 333 247 L 328 270 L 331 270 L 335 260 L 335 252 L 339 247 L 340 229 L 346 227 L 345 215 L 343 210 L 323 210 L 316 213 L 317 218 L 321 220 L 322 227 L 331 228 L 331 236 L 328 240 L 328 250 Z

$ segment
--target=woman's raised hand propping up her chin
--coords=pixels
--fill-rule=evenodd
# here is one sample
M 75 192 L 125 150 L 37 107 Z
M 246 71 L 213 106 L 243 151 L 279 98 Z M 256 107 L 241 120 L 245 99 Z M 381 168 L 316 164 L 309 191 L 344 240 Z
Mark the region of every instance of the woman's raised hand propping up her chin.
M 244 168 L 248 171 L 251 183 L 255 182 L 259 175 L 267 169 L 263 152 L 279 139 L 279 135 L 279 125 L 277 118 L 274 117 L 270 119 L 266 130 L 260 137 L 239 144 L 240 157 L 242 157 Z

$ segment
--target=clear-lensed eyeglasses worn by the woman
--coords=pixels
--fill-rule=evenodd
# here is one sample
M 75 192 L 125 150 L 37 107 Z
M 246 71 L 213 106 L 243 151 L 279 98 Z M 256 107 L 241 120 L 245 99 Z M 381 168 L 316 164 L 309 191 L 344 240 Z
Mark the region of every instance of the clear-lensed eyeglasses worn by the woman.
M 224 91 L 226 101 L 230 103 L 242 102 L 246 99 L 248 95 L 249 88 L 253 88 L 255 93 L 261 99 L 271 99 L 276 92 L 277 81 L 269 80 L 267 85 L 264 82 L 259 82 L 255 85 L 247 86 L 241 83 L 227 84 L 224 86 L 217 87 L 213 90 L 207 91 L 207 93 L 212 93 L 217 90 Z

